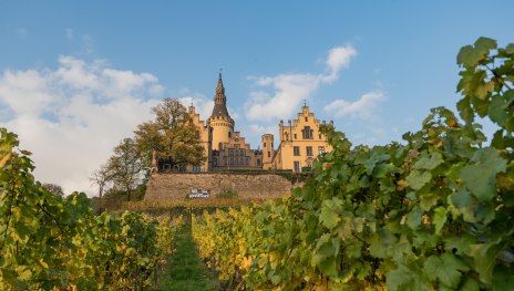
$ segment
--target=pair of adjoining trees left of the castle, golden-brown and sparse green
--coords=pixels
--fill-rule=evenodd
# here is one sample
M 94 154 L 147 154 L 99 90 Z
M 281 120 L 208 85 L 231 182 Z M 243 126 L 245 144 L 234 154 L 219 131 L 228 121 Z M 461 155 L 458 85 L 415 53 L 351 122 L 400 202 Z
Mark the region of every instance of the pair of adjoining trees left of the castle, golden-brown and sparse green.
M 146 190 L 154 157 L 172 166 L 201 165 L 205 155 L 198 128 L 178 101 L 166 98 L 152 108 L 154 119 L 144 122 L 114 147 L 111 157 L 93 172 L 100 206 L 116 208 L 120 200 L 141 200 Z

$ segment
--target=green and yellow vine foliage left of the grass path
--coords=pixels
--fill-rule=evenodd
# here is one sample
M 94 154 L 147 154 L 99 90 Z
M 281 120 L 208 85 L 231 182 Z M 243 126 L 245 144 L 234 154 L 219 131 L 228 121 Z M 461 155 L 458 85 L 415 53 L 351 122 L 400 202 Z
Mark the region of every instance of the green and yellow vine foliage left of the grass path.
M 171 253 L 175 227 L 125 211 L 94 216 L 34 180 L 30 153 L 0 128 L 0 289 L 142 289 Z

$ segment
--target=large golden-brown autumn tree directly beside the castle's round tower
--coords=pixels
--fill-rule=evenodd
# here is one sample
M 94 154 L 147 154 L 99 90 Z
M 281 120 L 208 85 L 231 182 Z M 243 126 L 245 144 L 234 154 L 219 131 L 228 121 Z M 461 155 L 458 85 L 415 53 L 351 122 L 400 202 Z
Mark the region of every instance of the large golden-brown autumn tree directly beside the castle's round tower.
M 186 107 L 178 100 L 166 98 L 152 112 L 155 119 L 138 125 L 134 132 L 145 165 L 151 165 L 154 150 L 172 166 L 202 164 L 204 147 L 199 131 Z

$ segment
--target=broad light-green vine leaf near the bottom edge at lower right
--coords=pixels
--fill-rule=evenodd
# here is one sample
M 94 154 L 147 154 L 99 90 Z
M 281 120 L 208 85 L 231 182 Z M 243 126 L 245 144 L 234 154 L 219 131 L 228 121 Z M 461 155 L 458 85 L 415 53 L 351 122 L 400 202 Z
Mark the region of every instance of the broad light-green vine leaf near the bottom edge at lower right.
M 462 277 L 460 271 L 467 271 L 469 269 L 455 256 L 448 252 L 442 256 L 431 256 L 424 262 L 426 277 L 432 281 L 439 280 L 450 288 L 456 288 Z

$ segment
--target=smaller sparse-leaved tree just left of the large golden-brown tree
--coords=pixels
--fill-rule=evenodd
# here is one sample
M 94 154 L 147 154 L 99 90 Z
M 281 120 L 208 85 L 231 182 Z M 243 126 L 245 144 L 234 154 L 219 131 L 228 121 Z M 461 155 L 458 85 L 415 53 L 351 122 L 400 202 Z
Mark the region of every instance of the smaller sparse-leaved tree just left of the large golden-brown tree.
M 144 167 L 137 146 L 132 138 L 124 138 L 114 148 L 106 164 L 107 180 L 131 200 L 132 191 L 143 181 Z

